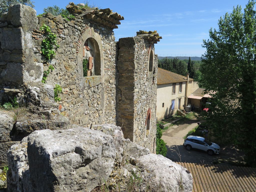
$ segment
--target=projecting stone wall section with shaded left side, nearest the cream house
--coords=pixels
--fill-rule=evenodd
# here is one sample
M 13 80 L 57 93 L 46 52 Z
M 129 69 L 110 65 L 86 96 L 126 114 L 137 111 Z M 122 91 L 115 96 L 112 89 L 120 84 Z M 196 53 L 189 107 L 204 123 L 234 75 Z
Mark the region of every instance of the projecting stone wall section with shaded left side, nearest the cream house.
M 118 48 L 117 125 L 125 137 L 155 153 L 158 62 L 154 44 L 129 37 L 119 39 Z M 154 60 L 151 71 L 150 54 Z

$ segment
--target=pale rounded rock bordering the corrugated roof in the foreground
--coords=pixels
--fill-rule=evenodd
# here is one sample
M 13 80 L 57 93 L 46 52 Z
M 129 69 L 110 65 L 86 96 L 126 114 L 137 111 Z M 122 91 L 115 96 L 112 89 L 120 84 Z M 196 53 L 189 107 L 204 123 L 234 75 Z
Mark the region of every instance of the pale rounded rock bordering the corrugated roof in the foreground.
M 148 154 L 138 159 L 138 166 L 144 169 L 144 173 L 150 173 L 165 191 L 192 191 L 192 174 L 186 172 L 186 168 L 172 162 L 162 155 Z M 182 187 L 180 187 L 182 185 Z

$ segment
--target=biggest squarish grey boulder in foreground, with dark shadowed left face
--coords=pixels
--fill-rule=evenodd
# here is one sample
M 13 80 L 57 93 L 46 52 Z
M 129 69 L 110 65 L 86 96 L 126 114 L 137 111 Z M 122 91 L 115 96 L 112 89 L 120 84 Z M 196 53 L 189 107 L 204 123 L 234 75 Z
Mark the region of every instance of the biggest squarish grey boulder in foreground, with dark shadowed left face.
M 115 160 L 113 138 L 87 128 L 35 131 L 27 153 L 39 192 L 91 191 L 109 177 Z

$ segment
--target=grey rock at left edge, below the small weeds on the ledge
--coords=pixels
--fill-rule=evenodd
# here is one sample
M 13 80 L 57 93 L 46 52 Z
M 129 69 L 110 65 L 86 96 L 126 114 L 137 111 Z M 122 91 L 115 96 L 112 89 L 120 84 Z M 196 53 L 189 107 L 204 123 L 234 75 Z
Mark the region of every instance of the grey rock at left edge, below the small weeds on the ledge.
M 0 142 L 11 141 L 10 132 L 13 129 L 13 116 L 13 112 L 0 111 Z

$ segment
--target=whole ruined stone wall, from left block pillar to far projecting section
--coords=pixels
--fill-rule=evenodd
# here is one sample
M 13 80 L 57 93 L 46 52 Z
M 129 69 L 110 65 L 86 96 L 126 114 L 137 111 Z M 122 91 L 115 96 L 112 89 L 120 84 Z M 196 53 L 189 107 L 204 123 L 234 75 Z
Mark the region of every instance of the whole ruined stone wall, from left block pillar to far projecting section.
M 57 35 L 60 46 L 56 49 L 56 56 L 52 60 L 46 60 L 40 54 L 41 42 L 44 39 L 40 27 L 43 24 L 48 25 Z M 88 38 L 92 40 L 94 54 L 96 53 L 96 57 L 100 58 L 94 60 L 94 67 L 100 65 L 100 71 L 95 76 L 83 77 L 83 49 Z M 7 95 L 3 88 L 19 89 L 18 92 L 22 93 L 18 93 L 18 96 L 24 92 L 34 93 L 30 100 L 27 98 L 33 104 L 30 109 L 33 109 L 33 113 L 37 111 L 39 115 L 33 116 L 34 119 L 45 114 L 41 112 L 45 109 L 50 116 L 60 113 L 60 116 L 66 117 L 65 122 L 70 121 L 71 124 L 80 126 L 90 126 L 91 123 L 116 124 L 117 121 L 119 122 L 117 125 L 122 126 L 126 138 L 148 147 L 155 153 L 156 94 L 154 93 L 156 93 L 157 59 L 155 58 L 153 72 L 149 74 L 148 59 L 150 50 L 154 51 L 154 45 L 143 39 L 131 39 L 134 39 L 134 45 L 123 44 L 123 47 L 118 47 L 112 28 L 102 27 L 78 16 L 71 21 L 51 14 L 37 17 L 34 9 L 20 4 L 14 5 L 0 22 L 0 89 L 2 89 L 0 98 L 4 102 L 17 94 L 15 92 L 13 95 Z M 126 68 L 123 72 L 117 58 L 118 50 L 122 48 L 131 49 L 131 59 L 136 64 L 136 67 L 131 70 Z M 121 57 L 119 59 L 122 60 Z M 48 75 L 46 84 L 43 84 L 41 83 L 43 72 L 49 65 L 52 65 L 54 70 Z M 118 68 L 116 65 L 119 65 Z M 63 92 L 60 94 L 61 101 L 58 105 L 53 100 L 55 84 L 59 84 Z M 43 91 L 38 92 L 39 89 Z M 130 97 L 129 102 L 132 101 L 128 103 L 130 111 L 119 108 L 123 105 L 120 100 L 122 89 L 128 90 L 123 91 L 122 97 Z M 119 94 L 116 95 L 116 92 Z M 43 95 L 40 95 L 41 93 Z M 31 99 L 37 96 L 40 96 L 40 102 L 32 102 Z M 119 105 L 116 104 L 116 100 Z M 147 131 L 149 109 L 151 110 L 150 129 Z M 127 118 L 123 118 L 124 114 Z M 121 121 L 123 123 L 120 124 Z M 36 124 L 42 127 L 43 123 L 38 120 Z M 15 129 L 18 129 L 17 125 L 13 125 Z M 27 130 L 35 130 L 34 122 L 27 125 L 26 121 L 19 125 L 20 131 L 23 131 L 24 126 Z M 9 129 L 12 130 L 12 127 Z M 0 144 L 5 145 L 1 147 L 3 149 L 1 154 L 5 154 L 4 151 L 8 150 L 12 142 L 20 141 L 27 136 L 30 133 L 27 130 L 22 135 L 18 135 L 20 132 L 15 133 L 17 134 L 15 138 L 11 138 L 8 142 L 6 140 L 2 143 L 1 140 Z M 6 161 L 6 157 L 3 159 Z

